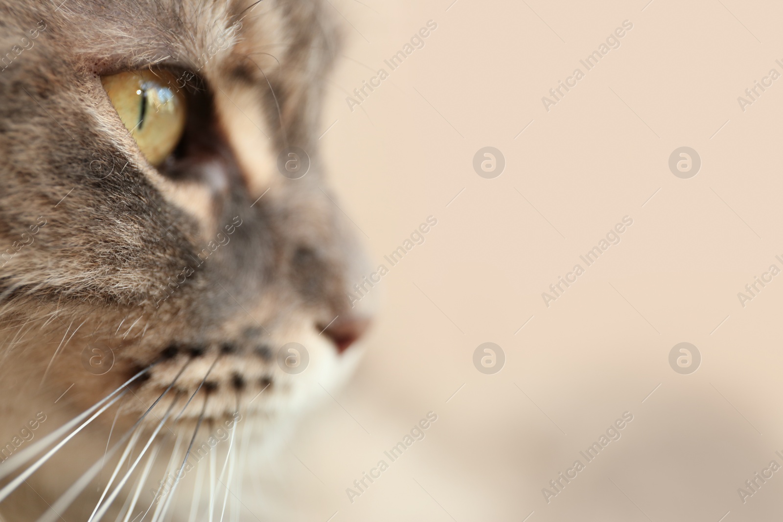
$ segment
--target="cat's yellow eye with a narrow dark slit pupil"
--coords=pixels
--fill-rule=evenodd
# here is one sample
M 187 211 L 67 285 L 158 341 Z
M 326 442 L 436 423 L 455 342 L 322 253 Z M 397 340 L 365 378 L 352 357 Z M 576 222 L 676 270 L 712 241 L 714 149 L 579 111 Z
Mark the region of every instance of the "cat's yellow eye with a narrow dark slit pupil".
M 143 69 L 103 76 L 101 82 L 147 161 L 163 163 L 185 128 L 185 97 L 174 75 Z

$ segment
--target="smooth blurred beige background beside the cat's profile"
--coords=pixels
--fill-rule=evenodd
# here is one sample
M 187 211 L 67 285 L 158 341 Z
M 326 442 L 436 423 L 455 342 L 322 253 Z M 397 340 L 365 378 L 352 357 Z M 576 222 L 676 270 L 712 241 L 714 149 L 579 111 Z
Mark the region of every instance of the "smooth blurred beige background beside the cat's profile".
M 737 293 L 783 268 L 783 79 L 745 112 L 737 97 L 783 73 L 783 6 L 450 2 L 334 2 L 352 26 L 321 142 L 341 208 L 373 265 L 428 215 L 438 225 L 373 290 L 355 378 L 265 465 L 269 511 L 256 515 L 780 517 L 783 472 L 744 504 L 737 489 L 783 464 L 783 275 L 745 308 Z M 428 20 L 424 49 L 348 110 L 346 92 Z M 623 20 L 620 48 L 544 110 Z M 474 172 L 482 146 L 502 151 L 500 177 Z M 694 178 L 669 171 L 680 146 L 702 158 Z M 622 242 L 547 308 L 541 293 L 625 215 Z M 486 341 L 506 354 L 495 375 L 472 363 Z M 669 367 L 682 341 L 702 354 L 691 375 Z M 345 488 L 428 411 L 424 440 L 349 502 Z M 541 489 L 626 411 L 622 438 L 547 504 Z

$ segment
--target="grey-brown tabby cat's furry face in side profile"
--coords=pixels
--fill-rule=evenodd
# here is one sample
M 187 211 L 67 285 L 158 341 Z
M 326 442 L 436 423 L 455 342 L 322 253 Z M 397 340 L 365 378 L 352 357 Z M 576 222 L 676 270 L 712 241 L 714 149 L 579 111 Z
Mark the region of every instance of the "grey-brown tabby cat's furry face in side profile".
M 42 409 L 59 419 L 52 428 L 64 423 L 145 369 L 117 402 L 117 426 L 132 426 L 164 392 L 149 427 L 172 403 L 172 430 L 237 409 L 274 422 L 334 383 L 367 316 L 346 297 L 359 256 L 318 151 L 337 52 L 327 9 L 315 0 L 2 2 L 9 437 Z M 123 71 L 161 78 L 164 98 L 180 100 L 181 135 L 159 118 L 151 146 L 134 138 L 105 88 Z M 154 121 L 147 113 L 147 128 Z M 163 160 L 149 159 L 156 146 Z M 290 350 L 299 345 L 301 359 Z M 46 477 L 36 484 L 58 489 Z

